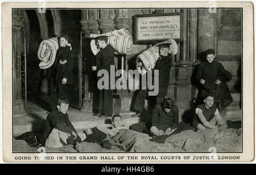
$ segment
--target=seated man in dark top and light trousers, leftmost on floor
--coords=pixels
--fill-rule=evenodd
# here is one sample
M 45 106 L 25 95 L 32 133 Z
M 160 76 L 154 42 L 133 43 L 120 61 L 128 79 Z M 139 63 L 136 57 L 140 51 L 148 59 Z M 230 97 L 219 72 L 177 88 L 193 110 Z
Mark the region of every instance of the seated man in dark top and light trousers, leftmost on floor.
M 42 144 L 47 148 L 59 148 L 66 144 L 81 142 L 75 127 L 69 121 L 68 106 L 69 100 L 60 97 L 57 103 L 57 111 L 48 114 L 42 134 Z

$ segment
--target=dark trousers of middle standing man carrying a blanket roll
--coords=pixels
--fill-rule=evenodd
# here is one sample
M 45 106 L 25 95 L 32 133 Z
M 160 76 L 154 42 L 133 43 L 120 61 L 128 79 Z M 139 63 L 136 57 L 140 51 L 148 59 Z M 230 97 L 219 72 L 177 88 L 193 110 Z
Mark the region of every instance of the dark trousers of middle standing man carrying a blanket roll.
M 113 114 L 113 90 L 103 89 L 99 91 L 99 113 L 104 116 Z

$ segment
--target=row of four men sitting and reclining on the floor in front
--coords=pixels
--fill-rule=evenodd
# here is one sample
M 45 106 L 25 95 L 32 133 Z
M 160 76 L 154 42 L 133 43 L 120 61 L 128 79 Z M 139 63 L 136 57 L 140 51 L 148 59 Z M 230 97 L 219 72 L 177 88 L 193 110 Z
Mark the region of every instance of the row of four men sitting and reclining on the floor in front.
M 61 147 L 66 144 L 81 143 L 82 140 L 75 127 L 69 121 L 68 117 L 69 100 L 65 97 L 60 97 L 57 103 L 57 110 L 48 114 L 46 119 L 46 125 L 42 134 L 42 144 L 48 148 Z M 139 123 L 136 123 L 137 125 Z M 151 126 L 146 134 L 150 136 L 158 135 L 170 135 L 178 127 L 179 124 L 179 109 L 174 104 L 174 101 L 170 98 L 166 98 L 162 104 L 155 105 L 151 117 Z M 214 98 L 208 94 L 204 99 L 204 104 L 200 104 L 196 107 L 193 114 L 192 123 L 190 126 L 197 130 L 214 129 L 219 130 L 226 129 L 227 125 L 225 120 L 221 117 L 216 105 L 214 104 Z M 139 127 L 145 127 L 146 125 L 137 125 Z M 143 132 L 144 129 L 137 130 L 136 127 L 131 127 L 128 122 L 122 121 L 122 117 L 114 115 L 112 117 L 112 124 L 98 125 L 97 129 L 113 138 L 121 130 L 136 130 Z M 145 132 L 143 132 L 145 133 Z

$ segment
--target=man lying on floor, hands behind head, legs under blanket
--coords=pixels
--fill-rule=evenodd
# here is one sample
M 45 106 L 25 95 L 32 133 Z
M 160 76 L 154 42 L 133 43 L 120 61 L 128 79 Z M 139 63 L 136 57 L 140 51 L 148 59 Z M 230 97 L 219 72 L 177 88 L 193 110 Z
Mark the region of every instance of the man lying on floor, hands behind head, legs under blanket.
M 112 124 L 98 125 L 97 129 L 107 134 L 106 140 L 109 140 L 112 147 L 118 147 L 122 151 L 136 151 L 141 146 L 144 138 L 150 139 L 148 134 L 138 133 L 129 129 L 129 124 L 122 122 L 119 115 L 112 117 Z

